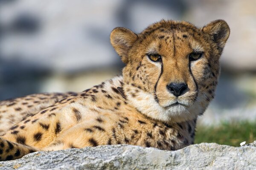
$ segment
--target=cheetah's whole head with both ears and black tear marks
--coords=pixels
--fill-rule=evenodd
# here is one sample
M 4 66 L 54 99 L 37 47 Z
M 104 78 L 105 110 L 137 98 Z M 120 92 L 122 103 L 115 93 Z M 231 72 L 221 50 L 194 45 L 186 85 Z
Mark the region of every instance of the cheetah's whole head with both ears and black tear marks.
M 183 122 L 204 113 L 214 97 L 219 58 L 230 34 L 216 20 L 203 28 L 162 20 L 135 34 L 115 28 L 111 44 L 126 63 L 125 94 L 145 115 Z

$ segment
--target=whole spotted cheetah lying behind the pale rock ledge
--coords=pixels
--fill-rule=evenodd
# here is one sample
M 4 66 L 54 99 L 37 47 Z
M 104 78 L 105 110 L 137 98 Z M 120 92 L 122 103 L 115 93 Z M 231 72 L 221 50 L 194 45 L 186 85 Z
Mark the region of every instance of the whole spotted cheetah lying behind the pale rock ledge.
M 140 34 L 113 29 L 122 75 L 81 93 L 0 102 L 0 160 L 105 144 L 161 150 L 193 144 L 197 118 L 214 98 L 229 34 L 224 20 L 202 28 L 161 20 Z

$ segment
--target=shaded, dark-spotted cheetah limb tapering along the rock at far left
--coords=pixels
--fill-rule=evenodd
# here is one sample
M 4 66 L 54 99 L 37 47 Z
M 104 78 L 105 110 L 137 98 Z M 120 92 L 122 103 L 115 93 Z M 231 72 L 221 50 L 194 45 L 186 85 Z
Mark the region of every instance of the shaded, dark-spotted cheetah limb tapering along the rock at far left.
M 19 159 L 26 154 L 38 151 L 37 148 L 10 142 L 0 138 L 0 161 Z

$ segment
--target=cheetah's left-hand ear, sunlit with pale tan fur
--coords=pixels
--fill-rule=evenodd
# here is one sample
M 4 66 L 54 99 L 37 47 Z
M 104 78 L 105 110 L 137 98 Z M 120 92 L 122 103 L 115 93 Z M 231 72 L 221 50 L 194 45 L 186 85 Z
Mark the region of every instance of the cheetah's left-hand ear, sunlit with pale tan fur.
M 128 51 L 137 38 L 137 34 L 123 27 L 113 29 L 110 34 L 111 45 L 113 48 L 115 48 L 117 54 L 121 57 L 125 64 L 128 63 Z

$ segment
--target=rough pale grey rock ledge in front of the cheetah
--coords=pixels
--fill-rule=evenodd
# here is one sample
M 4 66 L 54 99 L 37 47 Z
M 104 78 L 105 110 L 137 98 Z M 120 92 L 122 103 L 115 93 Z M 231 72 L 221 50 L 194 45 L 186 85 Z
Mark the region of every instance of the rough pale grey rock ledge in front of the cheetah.
M 255 143 L 255 142 L 254 142 Z M 166 151 L 131 145 L 104 145 L 54 152 L 36 152 L 0 162 L 8 169 L 255 169 L 256 147 L 201 143 Z

